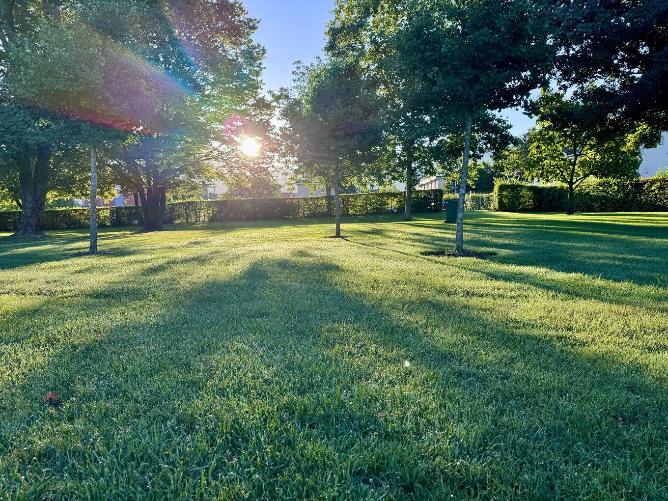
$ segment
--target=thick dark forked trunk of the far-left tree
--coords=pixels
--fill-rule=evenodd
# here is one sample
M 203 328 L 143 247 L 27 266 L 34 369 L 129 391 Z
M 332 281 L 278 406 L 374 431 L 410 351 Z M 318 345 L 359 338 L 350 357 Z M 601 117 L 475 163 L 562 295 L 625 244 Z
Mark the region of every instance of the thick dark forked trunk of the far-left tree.
M 42 218 L 46 206 L 47 180 L 51 150 L 48 146 L 37 146 L 37 158 L 33 169 L 30 148 L 21 148 L 17 155 L 19 183 L 21 184 L 21 218 L 17 236 L 44 236 Z

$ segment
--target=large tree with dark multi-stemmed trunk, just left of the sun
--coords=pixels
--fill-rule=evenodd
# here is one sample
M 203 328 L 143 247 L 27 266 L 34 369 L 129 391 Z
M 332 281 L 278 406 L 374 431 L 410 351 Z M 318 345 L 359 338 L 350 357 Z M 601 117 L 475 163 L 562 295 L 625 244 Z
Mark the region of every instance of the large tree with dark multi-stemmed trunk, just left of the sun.
M 234 131 L 267 115 L 259 95 L 265 51 L 251 39 L 257 20 L 230 0 L 96 0 L 82 15 L 164 81 L 140 99 L 151 120 L 135 118 L 134 140 L 112 162 L 138 194 L 146 230 L 161 230 L 167 190 L 206 181 L 224 149 L 236 148 Z

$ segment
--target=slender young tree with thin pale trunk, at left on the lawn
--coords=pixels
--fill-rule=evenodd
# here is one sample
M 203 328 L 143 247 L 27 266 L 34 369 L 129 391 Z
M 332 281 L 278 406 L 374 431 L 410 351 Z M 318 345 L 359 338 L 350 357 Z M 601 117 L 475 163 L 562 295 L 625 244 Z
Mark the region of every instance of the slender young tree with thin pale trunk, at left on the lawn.
M 110 51 L 108 41 L 79 22 L 72 13 L 62 15 L 59 19 L 58 23 L 43 22 L 29 37 L 29 47 L 23 47 L 25 50 L 17 51 L 11 56 L 15 65 L 9 88 L 17 103 L 30 106 L 42 116 L 49 116 L 49 126 L 59 124 L 62 133 L 67 134 L 60 144 L 53 145 L 58 146 L 61 152 L 51 153 L 48 169 L 42 173 L 47 179 L 40 197 L 47 196 L 49 179 L 53 180 L 57 176 L 63 180 L 78 179 L 79 173 L 85 172 L 85 165 L 90 165 L 90 252 L 96 253 L 98 172 L 95 148 L 104 146 L 105 142 L 122 140 L 128 134 L 122 129 L 106 126 L 104 120 L 110 120 L 110 115 L 102 115 L 105 112 L 101 104 L 106 97 L 106 86 L 102 79 L 104 73 L 100 68 L 104 68 L 108 59 L 117 54 Z M 77 67 L 77 71 L 73 71 L 73 67 Z M 34 71 L 34 68 L 39 68 L 39 71 Z M 13 110 L 15 116 L 20 116 L 19 109 L 20 106 Z M 5 109 L 5 112 L 11 111 L 11 108 Z M 46 130 L 51 130 L 51 127 Z M 40 132 L 45 137 L 36 139 L 47 140 L 48 136 L 43 134 L 43 131 Z M 25 129 L 19 130 L 19 134 L 25 137 Z M 81 162 L 81 165 L 77 166 L 75 160 L 83 160 L 83 155 L 75 154 L 77 148 L 90 154 L 90 161 Z M 57 169 L 57 158 L 63 155 L 69 160 L 65 164 L 69 170 Z M 109 181 L 110 177 L 106 176 L 106 180 Z M 25 184 L 22 183 L 21 198 L 26 196 Z M 88 180 L 76 184 L 82 192 L 81 188 L 88 184 Z M 103 191 L 104 188 L 109 186 L 103 186 Z M 37 197 L 33 200 L 37 200 Z M 39 202 L 39 208 L 43 210 L 41 200 Z M 25 216 L 25 211 L 23 215 Z

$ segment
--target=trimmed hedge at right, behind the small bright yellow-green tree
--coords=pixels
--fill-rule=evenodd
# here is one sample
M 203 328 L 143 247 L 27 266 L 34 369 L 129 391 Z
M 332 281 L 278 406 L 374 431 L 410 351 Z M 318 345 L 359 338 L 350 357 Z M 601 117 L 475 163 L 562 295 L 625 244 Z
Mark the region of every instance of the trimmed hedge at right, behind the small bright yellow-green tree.
M 565 186 L 500 183 L 494 188 L 498 210 L 565 212 Z M 574 198 L 578 212 L 668 212 L 668 178 L 634 181 L 597 180 L 578 186 Z

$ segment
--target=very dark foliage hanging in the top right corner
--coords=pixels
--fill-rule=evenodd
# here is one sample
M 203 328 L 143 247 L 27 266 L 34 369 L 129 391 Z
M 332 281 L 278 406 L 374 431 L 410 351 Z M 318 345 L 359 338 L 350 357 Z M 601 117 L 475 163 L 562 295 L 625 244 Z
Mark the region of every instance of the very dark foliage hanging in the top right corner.
M 550 2 L 554 79 L 618 112 L 618 124 L 668 130 L 668 2 Z

